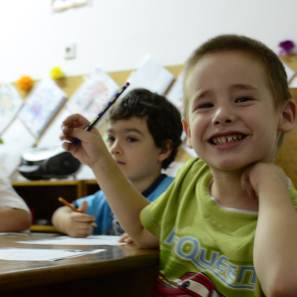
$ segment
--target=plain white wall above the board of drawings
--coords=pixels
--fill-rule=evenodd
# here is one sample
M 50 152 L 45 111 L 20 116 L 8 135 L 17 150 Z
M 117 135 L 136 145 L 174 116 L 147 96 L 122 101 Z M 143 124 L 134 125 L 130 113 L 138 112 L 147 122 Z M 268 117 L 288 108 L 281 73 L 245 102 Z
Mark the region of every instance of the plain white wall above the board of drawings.
M 54 66 L 66 75 L 135 69 L 147 54 L 164 66 L 183 64 L 200 43 L 244 34 L 275 52 L 297 42 L 296 0 L 91 0 L 53 13 L 51 0 L 0 0 L 0 78 L 40 79 Z M 67 42 L 77 57 L 64 60 Z

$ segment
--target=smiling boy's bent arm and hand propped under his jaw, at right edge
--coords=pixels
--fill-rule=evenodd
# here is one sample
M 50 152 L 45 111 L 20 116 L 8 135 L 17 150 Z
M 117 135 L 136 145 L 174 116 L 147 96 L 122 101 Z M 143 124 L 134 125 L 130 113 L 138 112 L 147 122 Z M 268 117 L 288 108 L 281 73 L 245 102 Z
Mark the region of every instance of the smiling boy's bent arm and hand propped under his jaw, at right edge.
M 266 296 L 296 296 L 297 213 L 281 168 L 258 163 L 247 172 L 259 200 L 254 265 Z

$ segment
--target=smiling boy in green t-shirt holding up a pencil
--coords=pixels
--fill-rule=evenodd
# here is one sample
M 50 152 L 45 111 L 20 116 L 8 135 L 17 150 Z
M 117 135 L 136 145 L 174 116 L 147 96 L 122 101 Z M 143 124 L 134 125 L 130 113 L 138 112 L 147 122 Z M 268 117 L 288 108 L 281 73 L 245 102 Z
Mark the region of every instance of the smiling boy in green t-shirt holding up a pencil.
M 89 165 L 140 247 L 160 247 L 153 296 L 296 296 L 297 193 L 273 165 L 296 122 L 284 67 L 264 44 L 217 36 L 185 65 L 183 126 L 199 158 L 149 204 L 79 115 L 61 140 Z

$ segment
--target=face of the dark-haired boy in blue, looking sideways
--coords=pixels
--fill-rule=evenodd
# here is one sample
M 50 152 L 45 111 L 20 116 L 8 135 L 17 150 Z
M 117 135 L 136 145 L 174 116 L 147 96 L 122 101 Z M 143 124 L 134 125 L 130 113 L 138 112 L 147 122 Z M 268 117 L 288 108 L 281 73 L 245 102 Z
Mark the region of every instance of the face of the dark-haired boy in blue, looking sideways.
M 133 116 L 109 123 L 107 135 L 109 151 L 124 175 L 136 187 L 150 186 L 160 175 L 161 162 L 146 119 Z

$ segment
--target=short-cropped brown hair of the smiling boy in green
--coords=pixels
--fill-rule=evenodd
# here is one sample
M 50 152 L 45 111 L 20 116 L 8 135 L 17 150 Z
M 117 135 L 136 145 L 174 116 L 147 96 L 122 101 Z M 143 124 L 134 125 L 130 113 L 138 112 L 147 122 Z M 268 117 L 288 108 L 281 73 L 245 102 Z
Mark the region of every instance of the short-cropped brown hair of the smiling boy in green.
M 185 119 L 187 119 L 188 116 L 187 112 L 189 104 L 187 80 L 197 62 L 205 55 L 232 50 L 246 53 L 263 65 L 276 108 L 286 100 L 292 98 L 287 83 L 285 68 L 278 56 L 271 49 L 269 49 L 265 44 L 246 36 L 219 35 L 208 40 L 197 48 L 185 64 L 183 70 L 183 116 Z

